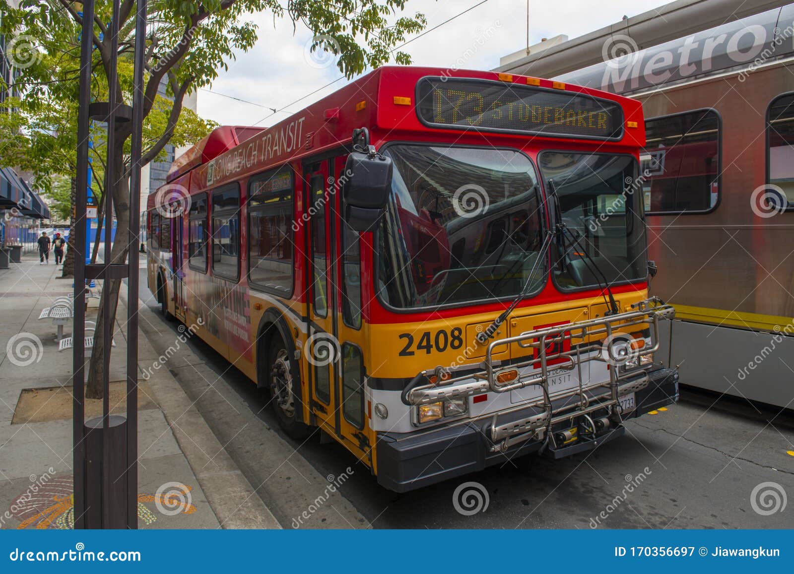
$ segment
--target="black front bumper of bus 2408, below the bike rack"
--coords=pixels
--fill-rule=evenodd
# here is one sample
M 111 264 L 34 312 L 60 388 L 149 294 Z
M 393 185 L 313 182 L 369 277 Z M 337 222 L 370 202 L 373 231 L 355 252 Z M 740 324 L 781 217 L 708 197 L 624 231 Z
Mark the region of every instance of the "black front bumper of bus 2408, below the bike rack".
M 650 410 L 676 403 L 678 373 L 669 368 L 649 372 L 649 384 L 636 393 L 636 408 L 622 415 L 623 420 L 637 418 Z M 631 379 L 628 379 L 630 382 Z M 604 413 L 608 409 L 604 407 Z M 576 418 L 575 413 L 574 418 Z M 597 416 L 600 416 L 596 414 Z M 592 418 L 596 418 L 593 416 Z M 615 426 L 594 438 L 581 438 L 565 445 L 549 446 L 546 440 L 527 440 L 507 449 L 495 450 L 491 441 L 491 419 L 457 426 L 426 430 L 417 436 L 404 433 L 381 433 L 377 442 L 378 482 L 392 491 L 406 492 L 429 484 L 476 472 L 515 457 L 537 453 L 553 458 L 592 450 L 604 442 L 622 436 L 624 427 Z M 569 424 L 565 426 L 570 426 Z M 561 430 L 553 428 L 552 433 Z

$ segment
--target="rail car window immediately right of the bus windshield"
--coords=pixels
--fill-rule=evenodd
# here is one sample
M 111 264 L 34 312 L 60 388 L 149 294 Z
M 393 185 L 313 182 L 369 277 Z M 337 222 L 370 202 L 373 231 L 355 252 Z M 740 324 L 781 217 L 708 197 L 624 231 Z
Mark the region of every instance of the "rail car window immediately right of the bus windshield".
M 720 121 L 714 110 L 646 120 L 640 153 L 645 209 L 650 214 L 703 213 L 719 199 Z

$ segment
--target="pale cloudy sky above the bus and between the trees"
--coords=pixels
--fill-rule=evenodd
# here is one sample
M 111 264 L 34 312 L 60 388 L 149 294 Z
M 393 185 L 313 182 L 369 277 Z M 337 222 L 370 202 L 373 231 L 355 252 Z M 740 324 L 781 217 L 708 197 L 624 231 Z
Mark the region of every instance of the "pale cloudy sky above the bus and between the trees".
M 407 0 L 406 12 L 421 12 L 427 29 L 440 25 L 481 0 Z M 664 0 L 558 0 L 530 2 L 530 44 L 545 37 L 581 36 L 619 21 L 664 6 Z M 333 62 L 322 66 L 308 55 L 312 34 L 303 25 L 293 32 L 291 21 L 276 21 L 272 14 L 252 17 L 259 25 L 259 40 L 241 53 L 213 83 L 198 91 L 198 113 L 221 124 L 272 125 L 322 96 L 343 86 L 345 80 L 319 90 L 341 73 Z M 409 37 L 410 40 L 410 37 Z M 451 67 L 467 50 L 474 52 L 464 67 L 490 70 L 499 58 L 526 47 L 526 2 L 487 0 L 460 17 L 441 25 L 403 48 L 414 64 Z M 471 53 L 470 52 L 470 53 Z M 315 92 L 312 94 L 312 92 Z M 223 95 L 222 95 L 223 94 Z M 311 94 L 311 95 L 308 95 Z M 307 96 L 303 98 L 304 96 Z M 231 98 L 226 97 L 231 96 Z M 238 99 L 233 99 L 238 98 Z M 300 102 L 292 104 L 299 98 Z M 245 100 L 241 102 L 240 100 Z M 252 102 L 252 103 L 246 103 Z M 270 108 L 286 111 L 272 113 Z

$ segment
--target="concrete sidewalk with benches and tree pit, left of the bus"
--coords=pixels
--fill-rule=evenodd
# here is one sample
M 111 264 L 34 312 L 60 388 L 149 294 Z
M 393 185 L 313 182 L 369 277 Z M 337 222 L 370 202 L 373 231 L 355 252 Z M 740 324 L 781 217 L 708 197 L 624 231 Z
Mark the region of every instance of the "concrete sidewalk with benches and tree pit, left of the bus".
M 56 326 L 38 319 L 72 292 L 71 279 L 58 276 L 35 256 L 0 270 L 0 528 L 69 528 L 73 520 L 71 349 L 59 352 Z M 95 320 L 98 301 L 90 301 L 87 319 Z M 71 336 L 71 326 L 64 331 Z M 123 413 L 127 341 L 118 321 L 114 340 L 110 405 Z M 139 336 L 139 528 L 279 528 L 159 364 Z M 101 401 L 87 400 L 86 410 L 87 418 L 101 414 Z

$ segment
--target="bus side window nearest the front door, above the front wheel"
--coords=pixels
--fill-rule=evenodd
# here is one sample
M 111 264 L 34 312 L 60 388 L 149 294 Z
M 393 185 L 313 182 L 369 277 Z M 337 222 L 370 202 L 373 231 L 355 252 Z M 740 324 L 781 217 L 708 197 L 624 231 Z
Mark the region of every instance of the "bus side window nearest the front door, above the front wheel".
M 292 292 L 292 176 L 289 169 L 249 183 L 249 283 L 278 295 Z

